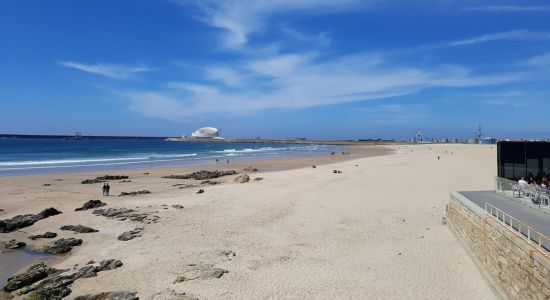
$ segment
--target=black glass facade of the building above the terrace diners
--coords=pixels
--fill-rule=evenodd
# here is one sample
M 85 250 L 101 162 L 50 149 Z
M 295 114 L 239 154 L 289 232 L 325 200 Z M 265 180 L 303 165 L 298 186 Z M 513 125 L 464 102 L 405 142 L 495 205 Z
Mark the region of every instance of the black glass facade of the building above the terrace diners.
M 498 177 L 550 178 L 550 142 L 498 142 Z

